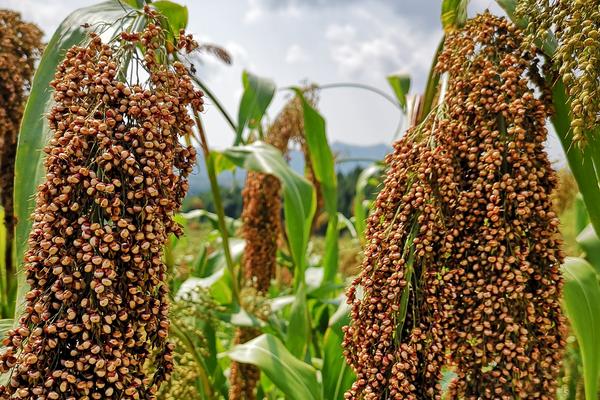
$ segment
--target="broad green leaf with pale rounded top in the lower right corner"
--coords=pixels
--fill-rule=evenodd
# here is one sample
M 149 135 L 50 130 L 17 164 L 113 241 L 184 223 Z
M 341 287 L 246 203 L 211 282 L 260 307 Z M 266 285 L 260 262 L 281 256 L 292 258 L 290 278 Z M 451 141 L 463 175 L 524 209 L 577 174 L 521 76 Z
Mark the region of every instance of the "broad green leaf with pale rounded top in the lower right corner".
M 563 297 L 583 360 L 586 400 L 598 396 L 600 373 L 600 284 L 594 268 L 582 258 L 567 257 L 562 266 Z

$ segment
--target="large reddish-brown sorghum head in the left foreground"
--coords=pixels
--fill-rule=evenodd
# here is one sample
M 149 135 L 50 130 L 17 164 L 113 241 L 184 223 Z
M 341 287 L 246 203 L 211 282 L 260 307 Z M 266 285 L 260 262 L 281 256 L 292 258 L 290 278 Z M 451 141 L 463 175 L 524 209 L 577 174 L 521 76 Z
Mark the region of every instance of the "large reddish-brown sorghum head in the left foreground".
M 31 290 L 3 342 L 1 399 L 155 399 L 171 372 L 162 249 L 182 233 L 172 217 L 195 151 L 179 137 L 202 93 L 183 65 L 156 62 L 166 34 L 145 12 L 139 34 L 111 46 L 91 34 L 69 49 L 52 81 L 53 135 L 25 255 Z M 193 47 L 183 35 L 178 45 Z M 148 78 L 124 83 L 118 54 L 137 46 Z

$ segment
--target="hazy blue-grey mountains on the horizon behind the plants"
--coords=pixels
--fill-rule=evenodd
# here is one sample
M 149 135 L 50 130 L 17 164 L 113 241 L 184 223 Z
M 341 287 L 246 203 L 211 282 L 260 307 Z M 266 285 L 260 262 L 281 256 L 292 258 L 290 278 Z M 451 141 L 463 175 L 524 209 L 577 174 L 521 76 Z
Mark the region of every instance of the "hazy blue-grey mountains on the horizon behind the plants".
M 383 160 L 385 155 L 389 153 L 392 148 L 386 144 L 375 144 L 369 146 L 361 146 L 356 144 L 334 142 L 331 144 L 331 150 L 336 159 L 336 170 L 343 174 L 347 174 L 356 167 L 366 167 L 372 164 L 374 161 Z M 198 157 L 202 157 L 201 152 L 198 152 Z M 299 150 L 292 150 L 289 153 L 289 162 L 291 167 L 298 173 L 304 171 L 304 155 Z M 198 165 L 201 166 L 195 168 L 194 172 L 190 176 L 190 194 L 203 193 L 209 190 L 208 177 L 206 171 L 203 168 L 204 161 L 200 160 Z M 234 173 L 229 171 L 223 172 L 219 175 L 219 184 L 223 187 L 232 187 L 237 185 L 242 187 L 244 184 L 244 178 L 246 173 L 243 170 L 237 170 Z

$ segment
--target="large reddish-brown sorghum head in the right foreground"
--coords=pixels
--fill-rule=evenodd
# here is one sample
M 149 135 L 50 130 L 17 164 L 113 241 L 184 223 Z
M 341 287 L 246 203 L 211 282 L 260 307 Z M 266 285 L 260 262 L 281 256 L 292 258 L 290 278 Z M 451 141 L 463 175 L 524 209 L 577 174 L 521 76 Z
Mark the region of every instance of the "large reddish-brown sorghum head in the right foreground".
M 347 398 L 439 399 L 444 364 L 451 398 L 556 397 L 562 253 L 533 57 L 489 14 L 448 36 L 444 101 L 396 144 L 369 217 Z

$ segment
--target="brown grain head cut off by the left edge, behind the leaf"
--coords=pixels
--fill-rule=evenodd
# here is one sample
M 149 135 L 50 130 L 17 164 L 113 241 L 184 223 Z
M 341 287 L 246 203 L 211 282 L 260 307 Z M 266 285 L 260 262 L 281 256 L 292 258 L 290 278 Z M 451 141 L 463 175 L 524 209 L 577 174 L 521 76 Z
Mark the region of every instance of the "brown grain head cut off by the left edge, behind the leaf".
M 0 10 L 0 205 L 5 212 L 7 276 L 13 276 L 11 242 L 14 228 L 13 183 L 17 135 L 35 62 L 42 51 L 42 31 L 19 13 Z

